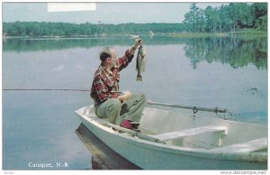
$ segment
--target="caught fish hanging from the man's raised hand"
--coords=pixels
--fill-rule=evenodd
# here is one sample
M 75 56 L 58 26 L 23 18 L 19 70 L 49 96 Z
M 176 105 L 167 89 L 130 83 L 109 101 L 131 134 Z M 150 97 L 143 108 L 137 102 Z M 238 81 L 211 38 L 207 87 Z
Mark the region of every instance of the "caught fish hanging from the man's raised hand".
M 143 48 L 142 44 L 140 44 L 136 63 L 136 70 L 138 71 L 136 78 L 137 81 L 142 81 L 141 72 L 144 72 L 145 70 L 145 60 L 146 60 L 146 51 Z

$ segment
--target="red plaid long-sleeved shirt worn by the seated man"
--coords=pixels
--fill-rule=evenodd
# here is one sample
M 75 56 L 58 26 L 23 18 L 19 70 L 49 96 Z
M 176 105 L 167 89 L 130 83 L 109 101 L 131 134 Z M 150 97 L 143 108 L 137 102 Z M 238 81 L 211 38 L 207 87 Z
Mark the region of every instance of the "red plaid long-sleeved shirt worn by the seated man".
M 134 55 L 130 54 L 130 51 L 125 51 L 125 55 L 119 58 L 115 62 L 115 66 L 108 71 L 103 68 L 101 64 L 99 68 L 94 73 L 92 88 L 90 92 L 90 97 L 94 99 L 95 104 L 101 104 L 107 100 L 107 98 L 117 98 L 118 93 L 112 91 L 119 90 L 119 80 L 121 69 L 126 68 L 130 61 L 133 59 Z

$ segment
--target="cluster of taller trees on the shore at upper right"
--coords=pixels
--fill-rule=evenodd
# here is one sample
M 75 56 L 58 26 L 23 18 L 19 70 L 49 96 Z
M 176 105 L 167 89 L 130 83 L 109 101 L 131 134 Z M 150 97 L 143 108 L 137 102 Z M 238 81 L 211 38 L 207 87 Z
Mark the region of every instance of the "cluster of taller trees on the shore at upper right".
M 184 15 L 187 32 L 237 32 L 239 29 L 267 30 L 267 4 L 230 3 L 202 10 L 193 3 Z

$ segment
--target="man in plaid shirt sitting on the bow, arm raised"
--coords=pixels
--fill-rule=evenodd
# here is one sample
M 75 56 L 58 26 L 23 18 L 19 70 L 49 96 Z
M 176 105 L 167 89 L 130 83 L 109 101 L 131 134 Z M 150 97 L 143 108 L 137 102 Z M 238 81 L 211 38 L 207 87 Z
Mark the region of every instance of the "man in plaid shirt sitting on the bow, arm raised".
M 100 118 L 108 118 L 112 124 L 134 129 L 139 123 L 146 104 L 143 94 L 133 95 L 130 91 L 119 92 L 119 72 L 126 68 L 134 57 L 134 52 L 142 40 L 137 39 L 123 57 L 116 59 L 116 52 L 109 47 L 100 53 L 101 65 L 94 73 L 90 96 L 94 99 L 94 113 Z

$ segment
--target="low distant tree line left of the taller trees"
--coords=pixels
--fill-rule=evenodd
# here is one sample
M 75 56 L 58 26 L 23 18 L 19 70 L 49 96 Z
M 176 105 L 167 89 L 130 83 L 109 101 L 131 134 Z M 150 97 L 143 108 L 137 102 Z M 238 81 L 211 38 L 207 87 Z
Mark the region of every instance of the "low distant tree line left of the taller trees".
M 183 32 L 181 23 L 4 23 L 3 33 L 8 36 L 99 36 L 117 34 L 149 34 Z

